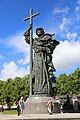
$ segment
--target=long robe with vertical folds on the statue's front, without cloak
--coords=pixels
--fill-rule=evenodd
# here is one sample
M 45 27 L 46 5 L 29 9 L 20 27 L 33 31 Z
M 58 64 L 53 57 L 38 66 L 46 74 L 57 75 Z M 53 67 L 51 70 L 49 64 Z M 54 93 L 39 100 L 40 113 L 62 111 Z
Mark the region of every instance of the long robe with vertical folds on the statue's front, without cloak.
M 35 94 L 47 93 L 46 77 L 46 48 L 43 46 L 41 38 L 34 39 L 34 62 L 33 69 L 35 75 Z

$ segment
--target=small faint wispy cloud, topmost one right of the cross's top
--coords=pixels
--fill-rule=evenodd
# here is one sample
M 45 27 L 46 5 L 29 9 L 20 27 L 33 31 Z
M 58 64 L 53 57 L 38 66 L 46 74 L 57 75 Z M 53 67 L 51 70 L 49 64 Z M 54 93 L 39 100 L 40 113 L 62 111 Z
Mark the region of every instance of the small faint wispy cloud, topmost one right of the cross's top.
M 59 8 L 59 7 L 55 7 L 52 11 L 53 15 L 55 14 L 66 14 L 69 11 L 69 7 L 65 7 L 65 8 Z

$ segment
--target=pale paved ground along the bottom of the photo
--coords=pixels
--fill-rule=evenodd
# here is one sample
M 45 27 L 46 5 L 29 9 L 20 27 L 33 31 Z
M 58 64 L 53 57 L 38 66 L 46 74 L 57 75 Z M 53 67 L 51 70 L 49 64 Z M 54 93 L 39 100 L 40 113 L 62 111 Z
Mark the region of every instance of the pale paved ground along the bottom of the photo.
M 80 113 L 0 115 L 0 120 L 80 120 Z

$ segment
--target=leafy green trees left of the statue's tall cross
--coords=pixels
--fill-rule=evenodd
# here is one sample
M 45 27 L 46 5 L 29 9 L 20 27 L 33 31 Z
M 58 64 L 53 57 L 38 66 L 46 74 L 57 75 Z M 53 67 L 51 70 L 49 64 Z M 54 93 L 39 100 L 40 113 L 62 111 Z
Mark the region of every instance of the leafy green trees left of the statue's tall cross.
M 5 82 L 0 80 L 0 100 L 6 103 L 9 108 L 14 102 L 16 103 L 21 96 L 26 100 L 28 95 L 29 75 L 23 78 L 9 78 Z

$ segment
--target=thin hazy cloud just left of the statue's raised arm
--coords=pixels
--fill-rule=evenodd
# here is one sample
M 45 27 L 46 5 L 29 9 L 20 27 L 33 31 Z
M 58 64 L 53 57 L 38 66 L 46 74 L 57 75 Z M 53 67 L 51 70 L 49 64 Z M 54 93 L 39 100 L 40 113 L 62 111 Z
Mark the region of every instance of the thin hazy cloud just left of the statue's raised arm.
M 7 38 L 8 46 L 15 47 L 17 52 L 27 54 L 29 52 L 29 45 L 25 42 L 25 39 L 22 35 L 22 32 L 19 34 L 15 34 Z

